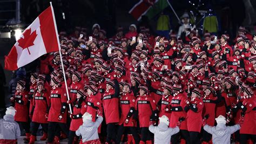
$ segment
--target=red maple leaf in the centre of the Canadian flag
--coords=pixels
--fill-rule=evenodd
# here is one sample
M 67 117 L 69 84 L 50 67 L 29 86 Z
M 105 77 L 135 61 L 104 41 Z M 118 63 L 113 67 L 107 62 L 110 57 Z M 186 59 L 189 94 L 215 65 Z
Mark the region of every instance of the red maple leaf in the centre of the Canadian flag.
M 24 38 L 21 37 L 18 40 L 19 46 L 21 46 L 23 50 L 28 49 L 29 51 L 29 47 L 34 45 L 33 42 L 37 37 L 36 31 L 33 31 L 31 33 L 31 28 L 30 28 L 28 30 L 25 30 L 22 35 L 24 36 Z M 29 51 L 29 54 L 30 54 L 30 51 Z

